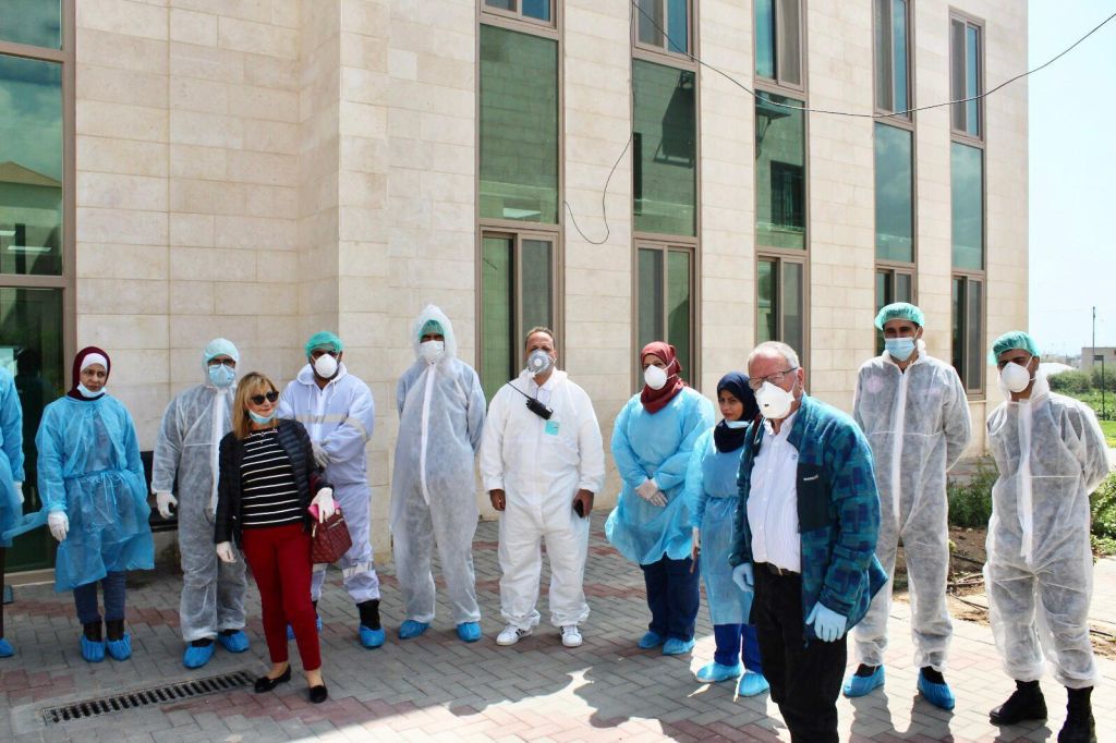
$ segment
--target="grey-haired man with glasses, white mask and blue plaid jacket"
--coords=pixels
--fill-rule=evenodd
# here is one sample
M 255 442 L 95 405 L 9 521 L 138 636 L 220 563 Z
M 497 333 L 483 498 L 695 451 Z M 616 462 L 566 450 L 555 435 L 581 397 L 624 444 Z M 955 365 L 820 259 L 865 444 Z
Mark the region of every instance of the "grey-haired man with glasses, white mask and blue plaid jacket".
M 887 580 L 872 450 L 852 418 L 806 394 L 790 346 L 757 346 L 748 376 L 764 421 L 740 459 L 732 578 L 754 591 L 763 675 L 791 740 L 836 743 L 845 634 Z

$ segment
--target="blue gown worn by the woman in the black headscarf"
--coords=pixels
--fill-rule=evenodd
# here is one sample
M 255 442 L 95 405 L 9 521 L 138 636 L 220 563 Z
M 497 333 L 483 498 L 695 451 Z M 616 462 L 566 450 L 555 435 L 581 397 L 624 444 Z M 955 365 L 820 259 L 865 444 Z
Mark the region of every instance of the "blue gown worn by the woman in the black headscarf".
M 710 428 L 694 444 L 686 471 L 685 500 L 690 524 L 701 529 L 701 577 L 714 625 L 745 624 L 754 596 L 744 594 L 732 582 L 732 566 L 729 565 L 733 519 L 740 502 L 737 471 L 742 451 L 716 451 Z

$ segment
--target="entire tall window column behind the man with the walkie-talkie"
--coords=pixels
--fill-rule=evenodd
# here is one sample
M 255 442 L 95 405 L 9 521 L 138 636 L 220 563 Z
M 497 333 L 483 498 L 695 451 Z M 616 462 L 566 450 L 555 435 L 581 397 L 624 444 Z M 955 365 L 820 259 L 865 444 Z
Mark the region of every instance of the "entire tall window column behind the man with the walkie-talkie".
M 560 332 L 559 65 L 550 0 L 485 0 L 480 27 L 479 350 L 491 398 L 522 368 L 523 334 Z M 512 17 L 514 16 L 514 18 Z

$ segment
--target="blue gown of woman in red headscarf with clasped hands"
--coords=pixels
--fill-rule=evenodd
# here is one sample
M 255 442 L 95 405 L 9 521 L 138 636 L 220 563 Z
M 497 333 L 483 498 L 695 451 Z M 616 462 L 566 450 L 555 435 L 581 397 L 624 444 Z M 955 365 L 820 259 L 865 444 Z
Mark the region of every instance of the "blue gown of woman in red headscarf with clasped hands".
M 690 513 L 682 490 L 698 438 L 713 425 L 713 404 L 685 387 L 666 407 L 651 414 L 635 395 L 613 426 L 613 460 L 624 480 L 605 535 L 616 550 L 639 565 L 690 557 Z M 635 489 L 653 479 L 666 505 L 652 505 Z

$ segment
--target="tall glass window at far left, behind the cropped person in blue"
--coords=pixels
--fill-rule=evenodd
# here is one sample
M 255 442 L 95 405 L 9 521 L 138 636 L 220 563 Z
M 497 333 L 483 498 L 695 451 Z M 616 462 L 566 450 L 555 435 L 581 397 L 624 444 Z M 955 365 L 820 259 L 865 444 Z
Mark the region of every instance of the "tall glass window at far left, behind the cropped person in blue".
M 35 434 L 44 406 L 68 386 L 64 359 L 73 350 L 74 42 L 62 21 L 59 0 L 0 11 L 0 366 L 16 377 L 23 408 L 26 512 L 41 506 Z M 52 554 L 33 531 L 15 540 L 8 569 L 48 568 Z

